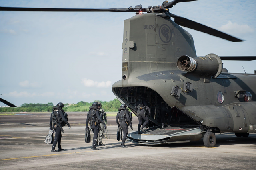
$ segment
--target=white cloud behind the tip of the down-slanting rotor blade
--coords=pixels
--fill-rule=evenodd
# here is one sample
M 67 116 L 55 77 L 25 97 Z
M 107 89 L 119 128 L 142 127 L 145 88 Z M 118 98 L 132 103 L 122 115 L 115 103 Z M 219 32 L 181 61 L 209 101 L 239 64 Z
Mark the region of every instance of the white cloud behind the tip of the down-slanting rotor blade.
M 248 26 L 248 25 L 239 25 L 238 23 L 232 23 L 231 21 L 228 21 L 226 25 L 222 25 L 219 27 L 221 31 L 232 33 L 232 34 L 238 34 L 238 33 L 253 33 L 254 30 Z

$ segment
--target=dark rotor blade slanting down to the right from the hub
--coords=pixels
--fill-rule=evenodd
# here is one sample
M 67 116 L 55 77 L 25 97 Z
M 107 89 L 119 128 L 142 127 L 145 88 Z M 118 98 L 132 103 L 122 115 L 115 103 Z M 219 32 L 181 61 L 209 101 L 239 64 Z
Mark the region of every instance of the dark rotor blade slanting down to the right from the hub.
M 232 42 L 242 42 L 242 41 L 244 41 L 244 40 L 238 39 L 236 37 L 233 37 L 231 35 L 228 35 L 226 33 L 223 33 L 221 31 L 218 31 L 216 29 L 207 27 L 206 25 L 202 25 L 202 24 L 197 23 L 195 21 L 188 20 L 187 18 L 176 16 L 176 15 L 171 14 L 171 13 L 169 13 L 169 15 L 174 18 L 174 22 L 177 23 L 178 25 L 181 25 L 181 26 L 184 26 L 184 27 L 187 27 L 187 28 L 190 28 L 190 29 L 194 29 L 196 31 L 200 31 L 200 32 L 203 32 L 203 33 L 207 33 L 207 34 L 213 35 L 215 37 L 220 37 L 222 39 L 226 39 L 226 40 L 232 41 Z

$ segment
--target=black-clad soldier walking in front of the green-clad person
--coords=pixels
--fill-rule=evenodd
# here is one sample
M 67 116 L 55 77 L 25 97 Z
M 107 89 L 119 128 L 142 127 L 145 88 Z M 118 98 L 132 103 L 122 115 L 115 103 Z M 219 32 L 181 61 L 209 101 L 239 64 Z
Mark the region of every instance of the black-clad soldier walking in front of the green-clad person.
M 87 113 L 87 119 L 86 119 L 86 129 L 89 129 L 88 123 L 90 121 L 90 126 L 92 128 L 92 131 L 94 133 L 93 141 L 92 141 L 92 150 L 98 150 L 96 148 L 96 140 L 98 138 L 99 134 L 99 126 L 100 123 L 104 125 L 104 128 L 106 129 L 107 126 L 104 123 L 104 121 L 101 119 L 100 114 L 98 112 L 99 104 L 98 102 L 94 102 L 91 107 L 89 107 L 90 110 Z

